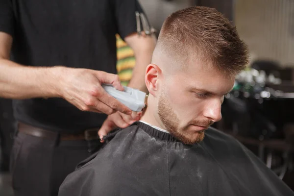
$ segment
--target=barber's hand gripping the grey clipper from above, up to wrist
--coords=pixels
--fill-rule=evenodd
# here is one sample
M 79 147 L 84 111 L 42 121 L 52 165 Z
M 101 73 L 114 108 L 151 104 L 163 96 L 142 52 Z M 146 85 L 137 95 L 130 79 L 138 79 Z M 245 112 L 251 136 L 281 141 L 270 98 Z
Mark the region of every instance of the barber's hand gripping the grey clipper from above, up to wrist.
M 101 86 L 102 83 L 112 84 L 123 91 L 118 75 L 89 69 L 61 68 L 59 71 L 62 73 L 60 81 L 57 81 L 60 96 L 80 110 L 108 115 L 116 111 L 131 114 L 128 107 Z

